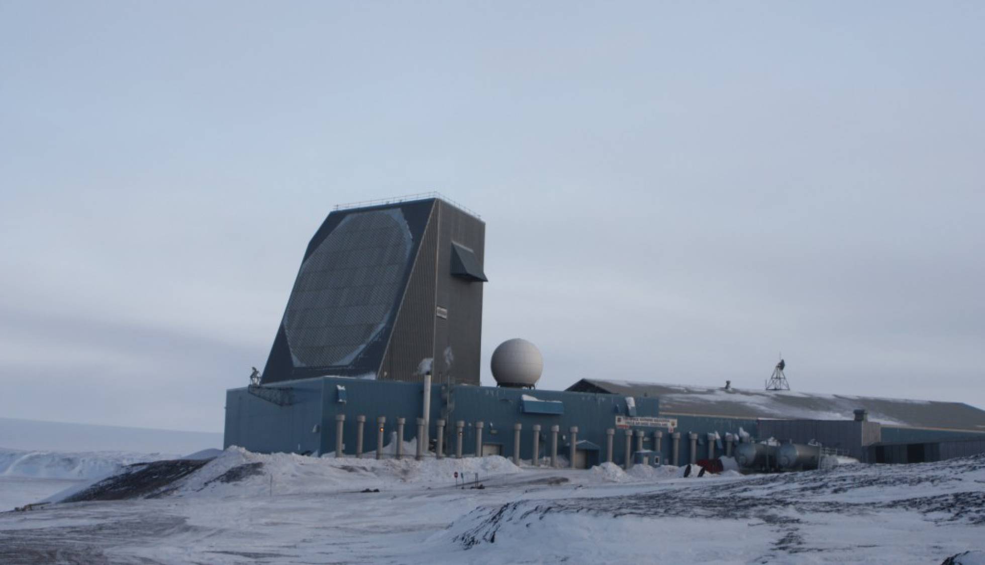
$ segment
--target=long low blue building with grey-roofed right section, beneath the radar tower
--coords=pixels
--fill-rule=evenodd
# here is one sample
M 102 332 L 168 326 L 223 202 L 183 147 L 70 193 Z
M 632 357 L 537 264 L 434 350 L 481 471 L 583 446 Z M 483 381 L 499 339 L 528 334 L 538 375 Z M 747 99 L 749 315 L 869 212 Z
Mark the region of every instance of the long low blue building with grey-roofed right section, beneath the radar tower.
M 536 445 L 537 458 L 550 458 L 557 430 L 558 454 L 570 453 L 574 435 L 575 464 L 588 467 L 610 458 L 626 465 L 639 450 L 658 453 L 664 463 L 694 462 L 727 453 L 729 437 L 740 436 L 818 441 L 873 463 L 885 450 L 872 447 L 886 442 L 985 439 L 985 411 L 960 403 L 585 379 L 563 392 L 437 384 L 426 414 L 425 386 L 320 377 L 233 389 L 226 445 L 321 455 L 336 451 L 341 428 L 342 453 L 355 456 L 376 450 L 380 430 L 385 443 L 395 433 L 415 440 L 424 421 L 428 455 L 440 437 L 447 456 L 455 455 L 461 438 L 466 456 L 515 454 L 532 461 Z M 926 448 L 923 460 L 952 452 Z

